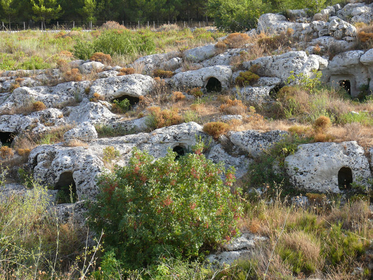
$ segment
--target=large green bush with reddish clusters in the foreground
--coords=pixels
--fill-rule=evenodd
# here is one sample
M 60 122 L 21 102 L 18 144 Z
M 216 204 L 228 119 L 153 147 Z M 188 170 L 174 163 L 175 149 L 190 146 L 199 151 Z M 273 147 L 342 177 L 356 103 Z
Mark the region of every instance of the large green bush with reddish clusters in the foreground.
M 175 161 L 168 150 L 154 160 L 134 149 L 129 165 L 97 178 L 100 193 L 89 207 L 89 224 L 132 269 L 171 254 L 196 258 L 203 249 L 236 234 L 241 208 L 221 179 L 222 165 L 202 154 L 203 144 Z

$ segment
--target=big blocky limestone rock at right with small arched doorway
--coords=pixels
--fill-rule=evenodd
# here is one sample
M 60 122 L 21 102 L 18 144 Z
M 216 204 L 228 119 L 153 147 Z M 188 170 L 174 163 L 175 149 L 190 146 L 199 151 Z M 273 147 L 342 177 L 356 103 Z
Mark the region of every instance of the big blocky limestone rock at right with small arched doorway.
M 361 177 L 362 184 L 371 177 L 364 149 L 355 141 L 299 145 L 285 163 L 290 181 L 309 191 L 339 192 L 338 179 L 345 178 L 348 172 L 353 182 Z

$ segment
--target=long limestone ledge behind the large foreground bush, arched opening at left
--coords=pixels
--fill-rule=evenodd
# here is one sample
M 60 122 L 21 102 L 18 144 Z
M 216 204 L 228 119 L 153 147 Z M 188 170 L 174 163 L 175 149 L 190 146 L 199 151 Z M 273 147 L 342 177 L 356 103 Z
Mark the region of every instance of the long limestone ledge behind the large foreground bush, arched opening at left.
M 134 147 L 148 150 L 155 158 L 160 158 L 167 154 L 169 148 L 180 146 L 186 151 L 191 149 L 199 136 L 207 142 L 210 139 L 200 125 L 190 122 L 151 133 L 91 140 L 86 147 L 64 147 L 61 143 L 41 145 L 31 151 L 29 167 L 33 170 L 34 179 L 42 184 L 52 187 L 75 184 L 79 200 L 94 199 L 98 191 L 95 177 L 106 170 L 102 160 L 106 147 L 118 150 L 120 157 L 115 159 L 115 163 L 125 166 Z

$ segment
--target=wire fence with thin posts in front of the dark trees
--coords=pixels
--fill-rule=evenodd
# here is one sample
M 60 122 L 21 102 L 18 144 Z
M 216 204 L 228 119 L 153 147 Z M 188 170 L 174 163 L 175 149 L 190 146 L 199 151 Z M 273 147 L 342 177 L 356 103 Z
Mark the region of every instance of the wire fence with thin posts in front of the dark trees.
M 93 30 L 101 27 L 107 21 L 90 22 L 75 22 L 75 21 L 51 21 L 51 22 L 35 22 L 35 21 L 18 21 L 0 22 L 0 31 L 22 31 L 22 30 L 43 30 L 43 31 L 62 31 L 72 30 L 79 28 L 82 30 Z M 127 29 L 159 29 L 164 25 L 176 24 L 181 28 L 204 28 L 213 27 L 214 21 L 116 21 L 118 24 L 126 27 Z

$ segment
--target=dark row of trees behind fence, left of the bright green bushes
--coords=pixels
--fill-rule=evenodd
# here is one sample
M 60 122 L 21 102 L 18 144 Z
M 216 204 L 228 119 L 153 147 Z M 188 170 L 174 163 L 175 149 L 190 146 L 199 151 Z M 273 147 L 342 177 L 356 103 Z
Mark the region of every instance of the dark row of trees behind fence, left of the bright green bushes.
M 0 20 L 7 24 L 51 20 L 175 21 L 206 19 L 207 0 L 0 0 Z

